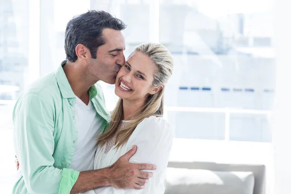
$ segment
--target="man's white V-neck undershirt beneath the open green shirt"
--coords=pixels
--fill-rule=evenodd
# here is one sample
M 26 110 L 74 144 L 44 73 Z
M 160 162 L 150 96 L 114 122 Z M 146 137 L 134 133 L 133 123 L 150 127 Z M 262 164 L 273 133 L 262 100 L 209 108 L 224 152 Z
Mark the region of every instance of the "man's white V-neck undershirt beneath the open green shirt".
M 76 104 L 74 108 L 76 111 L 75 121 L 78 140 L 70 168 L 81 172 L 93 170 L 93 162 L 97 149 L 96 137 L 103 132 L 105 121 L 97 114 L 91 100 L 86 105 L 80 98 L 75 97 Z

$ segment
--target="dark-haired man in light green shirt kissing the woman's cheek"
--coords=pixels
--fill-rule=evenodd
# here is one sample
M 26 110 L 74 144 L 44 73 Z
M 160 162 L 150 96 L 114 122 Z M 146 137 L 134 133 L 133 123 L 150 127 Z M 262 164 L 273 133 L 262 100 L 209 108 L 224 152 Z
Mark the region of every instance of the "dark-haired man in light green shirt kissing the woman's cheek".
M 112 166 L 93 170 L 96 137 L 110 120 L 97 81 L 115 83 L 124 65 L 125 24 L 104 11 L 74 17 L 65 30 L 66 61 L 32 83 L 14 112 L 19 179 L 13 194 L 76 194 L 100 186 L 143 189 L 154 165 L 129 163 L 134 146 Z

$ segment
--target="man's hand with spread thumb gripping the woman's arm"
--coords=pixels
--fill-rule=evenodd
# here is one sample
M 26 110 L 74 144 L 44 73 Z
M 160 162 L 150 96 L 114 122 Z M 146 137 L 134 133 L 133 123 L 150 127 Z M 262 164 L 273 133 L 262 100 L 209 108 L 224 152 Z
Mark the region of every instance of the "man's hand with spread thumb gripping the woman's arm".
M 135 154 L 137 147 L 133 146 L 125 155 L 121 156 L 109 167 L 110 185 L 117 189 L 144 189 L 148 179 L 153 176 L 151 172 L 141 170 L 156 170 L 156 166 L 145 163 L 130 163 L 129 158 Z

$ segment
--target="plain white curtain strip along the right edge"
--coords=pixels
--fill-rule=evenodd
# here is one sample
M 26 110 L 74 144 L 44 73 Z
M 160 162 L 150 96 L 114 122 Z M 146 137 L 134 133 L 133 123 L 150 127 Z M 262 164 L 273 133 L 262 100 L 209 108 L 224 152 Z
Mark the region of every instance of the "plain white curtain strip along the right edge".
M 270 21 L 271 22 L 271 21 Z M 291 1 L 275 0 L 274 194 L 291 194 Z

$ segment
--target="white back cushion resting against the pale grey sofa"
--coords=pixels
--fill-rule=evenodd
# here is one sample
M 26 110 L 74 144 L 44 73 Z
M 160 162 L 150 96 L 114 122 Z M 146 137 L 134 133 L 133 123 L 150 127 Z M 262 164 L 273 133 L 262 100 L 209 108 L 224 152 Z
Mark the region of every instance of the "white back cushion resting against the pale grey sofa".
M 253 194 L 252 172 L 167 168 L 165 194 Z

